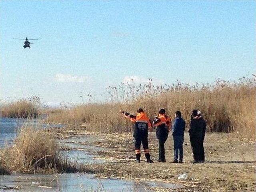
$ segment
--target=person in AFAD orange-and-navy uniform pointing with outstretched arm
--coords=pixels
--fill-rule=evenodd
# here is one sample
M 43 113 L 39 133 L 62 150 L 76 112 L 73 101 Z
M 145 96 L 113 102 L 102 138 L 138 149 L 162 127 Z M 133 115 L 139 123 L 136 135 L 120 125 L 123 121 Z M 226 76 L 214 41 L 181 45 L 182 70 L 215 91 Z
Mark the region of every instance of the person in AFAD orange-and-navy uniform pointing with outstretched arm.
M 129 114 L 128 112 L 124 112 L 122 110 L 120 110 L 120 112 L 126 118 L 129 118 L 132 122 L 135 122 L 133 136 L 135 140 L 134 144 L 135 144 L 136 162 L 140 163 L 140 146 L 142 144 L 147 162 L 152 163 L 153 161 L 150 159 L 150 154 L 148 149 L 148 129 L 152 127 L 150 119 L 146 116 L 143 109 L 141 108 L 137 110 L 136 116 Z

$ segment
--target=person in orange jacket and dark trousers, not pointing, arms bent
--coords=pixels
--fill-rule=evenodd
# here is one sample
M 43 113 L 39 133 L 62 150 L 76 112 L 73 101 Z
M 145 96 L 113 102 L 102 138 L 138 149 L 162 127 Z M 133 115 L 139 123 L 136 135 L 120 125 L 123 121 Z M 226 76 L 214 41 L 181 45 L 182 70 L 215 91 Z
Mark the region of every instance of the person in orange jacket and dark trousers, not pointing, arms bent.
M 159 157 L 158 162 L 166 162 L 164 143 L 168 138 L 169 131 L 172 127 L 172 120 L 170 116 L 165 114 L 164 109 L 159 110 L 159 114 L 153 120 L 153 126 L 156 126 L 156 137 L 158 138 Z

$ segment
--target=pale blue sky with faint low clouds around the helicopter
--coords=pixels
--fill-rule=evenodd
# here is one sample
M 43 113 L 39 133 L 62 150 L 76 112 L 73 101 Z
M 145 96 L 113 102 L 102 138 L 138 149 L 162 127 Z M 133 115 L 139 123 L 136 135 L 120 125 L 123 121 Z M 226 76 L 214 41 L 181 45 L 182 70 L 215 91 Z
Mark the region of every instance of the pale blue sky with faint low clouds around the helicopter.
M 255 73 L 256 3 L 1 0 L 0 99 L 81 102 L 134 77 L 156 83 Z M 33 41 L 23 49 L 22 40 Z M 31 41 L 32 42 L 32 41 Z

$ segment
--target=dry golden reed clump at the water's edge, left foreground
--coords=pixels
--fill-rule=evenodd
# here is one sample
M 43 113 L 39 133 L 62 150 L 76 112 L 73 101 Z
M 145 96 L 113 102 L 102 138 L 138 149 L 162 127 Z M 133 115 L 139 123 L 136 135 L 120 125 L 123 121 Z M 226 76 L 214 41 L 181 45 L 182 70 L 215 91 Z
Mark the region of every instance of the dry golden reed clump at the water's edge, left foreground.
M 54 136 L 49 132 L 23 126 L 14 146 L 0 150 L 1 174 L 77 172 L 76 163 L 64 159 Z

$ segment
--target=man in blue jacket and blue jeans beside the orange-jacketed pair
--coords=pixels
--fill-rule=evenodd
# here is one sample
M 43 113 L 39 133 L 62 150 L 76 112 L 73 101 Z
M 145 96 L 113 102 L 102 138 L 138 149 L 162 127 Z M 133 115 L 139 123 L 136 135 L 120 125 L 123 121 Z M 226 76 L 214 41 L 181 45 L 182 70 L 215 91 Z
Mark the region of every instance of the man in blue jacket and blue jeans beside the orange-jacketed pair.
M 172 136 L 174 141 L 174 163 L 178 163 L 178 154 L 180 152 L 179 163 L 183 161 L 183 141 L 185 132 L 185 121 L 181 118 L 181 112 L 175 112 L 175 120 L 172 126 Z

